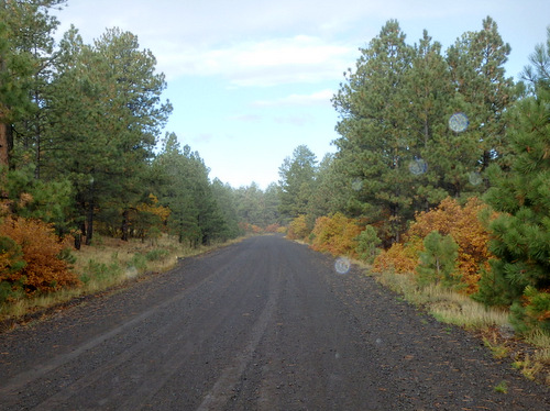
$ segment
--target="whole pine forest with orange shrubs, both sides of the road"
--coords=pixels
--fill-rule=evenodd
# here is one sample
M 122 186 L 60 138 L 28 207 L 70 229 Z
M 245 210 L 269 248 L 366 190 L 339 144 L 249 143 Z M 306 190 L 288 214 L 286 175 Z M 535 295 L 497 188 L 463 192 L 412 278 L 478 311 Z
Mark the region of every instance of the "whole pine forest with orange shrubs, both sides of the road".
M 332 98 L 336 154 L 298 145 L 262 190 L 211 181 L 162 134 L 166 80 L 136 35 L 54 41 L 65 2 L 0 3 L 1 303 L 78 287 L 72 253 L 98 236 L 194 248 L 285 231 L 550 334 L 550 30 L 515 81 L 490 16 L 446 51 L 389 20 Z

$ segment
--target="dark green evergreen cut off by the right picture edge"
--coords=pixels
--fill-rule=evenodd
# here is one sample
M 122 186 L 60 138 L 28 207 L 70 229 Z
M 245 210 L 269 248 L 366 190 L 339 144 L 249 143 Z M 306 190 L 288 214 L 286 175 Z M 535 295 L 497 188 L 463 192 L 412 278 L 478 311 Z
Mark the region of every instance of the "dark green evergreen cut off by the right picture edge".
M 491 249 L 498 259 L 480 290 L 485 302 L 515 303 L 519 318 L 532 310 L 534 301 L 550 297 L 550 29 L 530 62 L 525 78 L 531 96 L 517 104 L 509 132 L 512 169 L 492 169 L 494 187 L 486 200 L 502 212 L 491 225 Z

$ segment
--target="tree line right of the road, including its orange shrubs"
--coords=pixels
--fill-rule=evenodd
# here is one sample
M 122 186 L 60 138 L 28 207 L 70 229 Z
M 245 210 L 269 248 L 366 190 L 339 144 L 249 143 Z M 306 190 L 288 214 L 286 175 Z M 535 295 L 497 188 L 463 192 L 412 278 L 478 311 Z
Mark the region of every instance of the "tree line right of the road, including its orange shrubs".
M 391 20 L 359 52 L 332 99 L 337 153 L 301 145 L 279 168 L 290 236 L 550 332 L 550 31 L 517 82 L 491 18 L 444 52 Z

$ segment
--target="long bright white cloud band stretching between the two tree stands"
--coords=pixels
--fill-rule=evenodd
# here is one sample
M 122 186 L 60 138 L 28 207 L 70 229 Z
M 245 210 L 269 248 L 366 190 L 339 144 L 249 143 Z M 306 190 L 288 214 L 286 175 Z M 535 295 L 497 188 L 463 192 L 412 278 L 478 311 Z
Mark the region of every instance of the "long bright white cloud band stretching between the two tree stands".
M 182 47 L 163 43 L 155 51 L 167 78 L 220 76 L 235 87 L 270 87 L 340 79 L 356 48 L 319 37 L 246 41 L 219 48 Z

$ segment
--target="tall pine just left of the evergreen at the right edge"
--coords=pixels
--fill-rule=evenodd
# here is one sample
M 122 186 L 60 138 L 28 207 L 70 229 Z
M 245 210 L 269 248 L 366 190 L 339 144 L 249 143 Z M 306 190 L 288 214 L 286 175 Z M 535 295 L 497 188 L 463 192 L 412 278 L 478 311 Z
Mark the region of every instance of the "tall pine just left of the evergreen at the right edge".
M 452 178 L 452 195 L 468 188 L 471 173 L 483 173 L 492 163 L 505 160 L 505 113 L 517 97 L 513 79 L 505 77 L 504 64 L 509 53 L 509 44 L 504 43 L 491 16 L 483 20 L 481 31 L 464 33 L 447 52 L 458 92 L 453 110 L 462 111 L 469 119 L 468 130 L 454 138 L 454 144 L 462 147 L 460 157 L 452 159 L 454 173 L 447 173 L 448 179 Z M 479 187 L 479 191 L 484 189 Z

